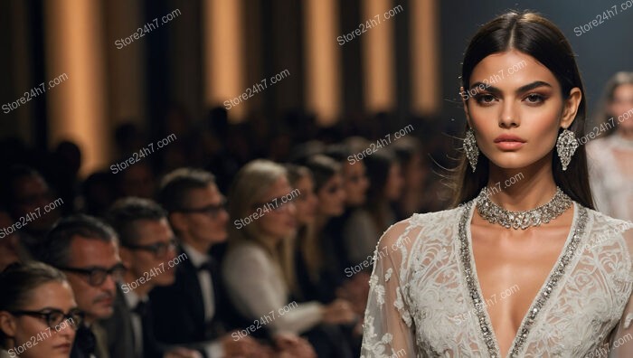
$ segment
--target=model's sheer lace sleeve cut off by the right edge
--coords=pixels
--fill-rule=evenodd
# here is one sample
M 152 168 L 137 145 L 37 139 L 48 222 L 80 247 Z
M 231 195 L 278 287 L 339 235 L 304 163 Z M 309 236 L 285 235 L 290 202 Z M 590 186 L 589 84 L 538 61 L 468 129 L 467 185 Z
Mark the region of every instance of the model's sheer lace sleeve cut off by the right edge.
M 633 258 L 633 222 L 621 221 L 622 234 L 627 243 L 629 258 Z M 630 262 L 629 262 L 630 265 Z M 633 281 L 633 266 L 629 267 L 628 280 Z M 609 357 L 633 357 L 633 295 L 628 297 L 627 306 L 609 338 Z

